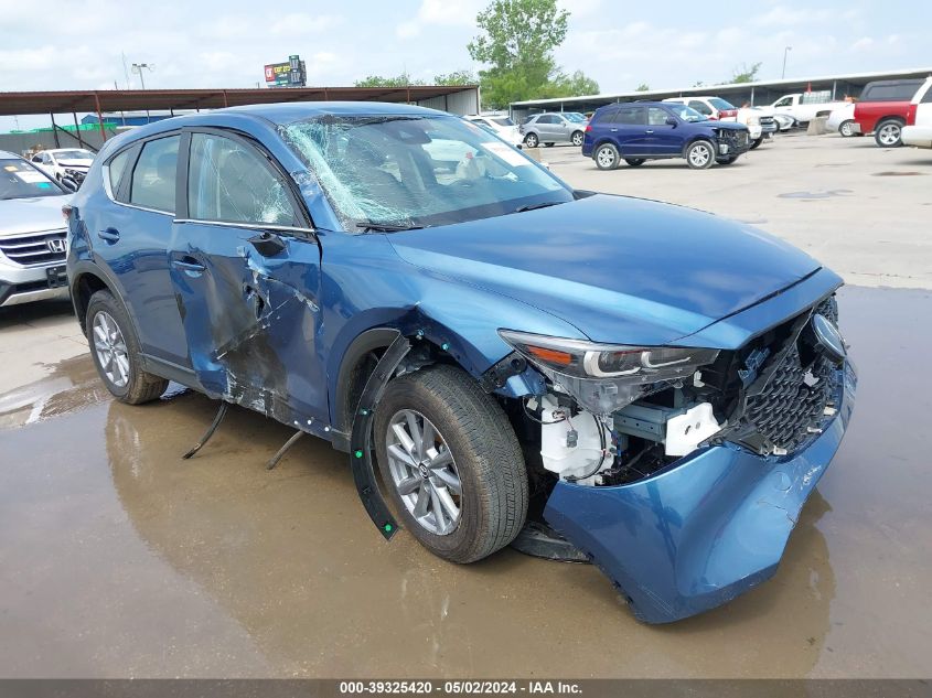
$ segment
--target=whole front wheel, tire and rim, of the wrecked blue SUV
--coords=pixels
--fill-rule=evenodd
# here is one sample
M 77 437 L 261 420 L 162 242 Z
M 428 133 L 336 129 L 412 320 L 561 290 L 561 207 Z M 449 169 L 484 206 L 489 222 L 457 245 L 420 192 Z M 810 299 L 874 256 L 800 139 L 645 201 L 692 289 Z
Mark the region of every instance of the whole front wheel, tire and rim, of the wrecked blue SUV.
M 499 402 L 461 369 L 390 382 L 375 418 L 378 468 L 408 530 L 453 562 L 508 545 L 527 517 L 527 471 Z

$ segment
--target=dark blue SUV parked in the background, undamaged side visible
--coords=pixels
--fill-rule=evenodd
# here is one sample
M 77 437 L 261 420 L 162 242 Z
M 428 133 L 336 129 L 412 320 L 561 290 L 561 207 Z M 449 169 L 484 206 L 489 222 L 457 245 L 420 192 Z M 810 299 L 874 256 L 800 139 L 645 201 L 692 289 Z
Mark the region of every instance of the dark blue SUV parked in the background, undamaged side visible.
M 589 120 L 582 154 L 600 170 L 685 158 L 694 170 L 731 164 L 750 148 L 746 126 L 711 121 L 686 105 L 635 101 L 600 107 Z

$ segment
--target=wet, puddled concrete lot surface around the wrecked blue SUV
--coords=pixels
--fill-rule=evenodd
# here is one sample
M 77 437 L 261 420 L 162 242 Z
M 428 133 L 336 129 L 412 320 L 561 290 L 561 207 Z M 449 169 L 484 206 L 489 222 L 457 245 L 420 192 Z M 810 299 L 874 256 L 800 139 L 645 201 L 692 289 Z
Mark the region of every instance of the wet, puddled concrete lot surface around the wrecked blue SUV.
M 855 417 L 773 580 L 645 626 L 588 566 L 386 544 L 345 455 L 307 439 L 265 471 L 289 431 L 256 414 L 182 461 L 215 405 L 114 402 L 67 305 L 44 303 L 0 309 L 0 675 L 926 674 L 932 153 L 793 136 L 728 169 L 599 172 L 542 152 L 576 186 L 760 225 L 848 281 Z

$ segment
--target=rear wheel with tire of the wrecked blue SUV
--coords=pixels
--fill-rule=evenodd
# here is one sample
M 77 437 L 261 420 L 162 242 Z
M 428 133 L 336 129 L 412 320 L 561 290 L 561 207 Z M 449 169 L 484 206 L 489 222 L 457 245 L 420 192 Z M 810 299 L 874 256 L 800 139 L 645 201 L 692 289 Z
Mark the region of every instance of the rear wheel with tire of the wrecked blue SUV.
M 124 307 L 109 291 L 87 303 L 87 340 L 97 374 L 120 402 L 141 405 L 161 397 L 169 382 L 140 368 L 140 350 Z

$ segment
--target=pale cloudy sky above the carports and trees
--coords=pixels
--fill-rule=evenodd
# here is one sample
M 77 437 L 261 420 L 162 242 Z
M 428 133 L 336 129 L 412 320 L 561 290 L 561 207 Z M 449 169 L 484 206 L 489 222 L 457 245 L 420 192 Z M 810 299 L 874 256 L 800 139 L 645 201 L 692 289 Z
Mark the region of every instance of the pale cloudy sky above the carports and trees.
M 467 44 L 491 0 L 0 0 L 0 90 L 256 87 L 263 66 L 300 54 L 309 85 L 367 75 L 430 82 L 478 71 Z M 761 62 L 761 79 L 932 67 L 925 0 L 558 0 L 570 11 L 556 52 L 602 92 L 725 82 Z M 47 126 L 21 117 L 20 126 Z M 15 128 L 0 117 L 0 130 Z

